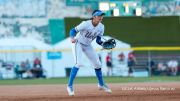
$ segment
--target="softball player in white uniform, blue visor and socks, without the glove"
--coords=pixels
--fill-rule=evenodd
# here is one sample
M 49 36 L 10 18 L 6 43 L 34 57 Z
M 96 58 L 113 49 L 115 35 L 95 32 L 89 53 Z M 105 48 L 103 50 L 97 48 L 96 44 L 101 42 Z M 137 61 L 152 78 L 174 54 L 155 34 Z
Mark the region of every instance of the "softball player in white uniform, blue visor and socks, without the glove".
M 72 42 L 72 50 L 75 60 L 75 65 L 71 69 L 67 91 L 70 96 L 74 96 L 73 81 L 80 67 L 82 67 L 81 56 L 84 53 L 90 62 L 93 64 L 96 77 L 98 79 L 98 88 L 107 93 L 111 93 L 111 89 L 104 83 L 101 71 L 101 63 L 95 50 L 91 46 L 91 42 L 96 39 L 97 44 L 102 45 L 102 37 L 104 33 L 104 25 L 101 23 L 103 13 L 100 10 L 95 10 L 92 13 L 92 19 L 82 21 L 78 26 L 70 30 Z M 77 34 L 76 34 L 77 33 Z

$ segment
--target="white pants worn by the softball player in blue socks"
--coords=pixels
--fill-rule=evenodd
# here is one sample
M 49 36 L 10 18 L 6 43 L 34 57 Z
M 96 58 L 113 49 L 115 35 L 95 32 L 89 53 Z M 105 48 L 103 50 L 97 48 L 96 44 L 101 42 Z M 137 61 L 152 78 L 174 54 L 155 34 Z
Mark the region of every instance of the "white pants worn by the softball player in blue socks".
M 79 42 L 76 42 L 72 45 L 72 51 L 76 67 L 79 68 L 83 66 L 82 54 L 84 53 L 89 61 L 93 64 L 94 68 L 101 68 L 99 57 L 91 45 L 83 45 Z

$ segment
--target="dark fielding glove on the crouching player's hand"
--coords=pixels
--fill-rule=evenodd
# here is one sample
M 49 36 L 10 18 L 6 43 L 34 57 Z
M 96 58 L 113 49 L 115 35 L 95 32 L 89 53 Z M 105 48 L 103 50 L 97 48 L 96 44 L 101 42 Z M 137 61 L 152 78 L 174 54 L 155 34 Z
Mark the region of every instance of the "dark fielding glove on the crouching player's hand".
M 102 43 L 103 49 L 113 49 L 116 47 L 116 41 L 114 39 L 108 39 Z

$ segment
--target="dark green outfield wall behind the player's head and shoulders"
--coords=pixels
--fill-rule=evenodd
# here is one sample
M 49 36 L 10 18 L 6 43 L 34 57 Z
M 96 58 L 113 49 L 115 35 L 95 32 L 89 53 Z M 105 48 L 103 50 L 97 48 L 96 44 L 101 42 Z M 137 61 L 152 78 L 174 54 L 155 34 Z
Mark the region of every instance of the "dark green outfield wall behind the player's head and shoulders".
M 86 19 L 65 18 L 66 37 L 70 28 Z M 134 46 L 180 46 L 180 17 L 105 17 L 105 35 Z

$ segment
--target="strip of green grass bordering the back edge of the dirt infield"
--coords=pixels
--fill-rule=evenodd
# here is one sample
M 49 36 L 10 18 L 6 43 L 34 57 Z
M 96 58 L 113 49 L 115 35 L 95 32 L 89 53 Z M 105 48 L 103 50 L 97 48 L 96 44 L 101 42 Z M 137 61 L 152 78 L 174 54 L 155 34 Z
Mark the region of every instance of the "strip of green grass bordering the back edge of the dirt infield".
M 131 83 L 131 82 L 175 82 L 180 81 L 180 76 L 176 77 L 104 77 L 107 83 Z M 39 84 L 67 84 L 68 78 L 51 79 L 24 79 L 24 80 L 0 80 L 0 85 L 39 85 Z M 76 84 L 97 83 L 96 77 L 78 77 Z

